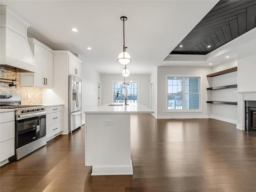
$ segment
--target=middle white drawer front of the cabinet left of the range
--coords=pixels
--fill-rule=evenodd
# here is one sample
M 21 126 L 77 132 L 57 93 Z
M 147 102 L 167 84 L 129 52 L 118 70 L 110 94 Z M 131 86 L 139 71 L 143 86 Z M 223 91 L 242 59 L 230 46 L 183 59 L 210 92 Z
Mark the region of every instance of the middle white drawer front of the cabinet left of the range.
M 4 142 L 14 138 L 15 136 L 15 123 L 14 121 L 1 123 L 0 125 L 0 142 Z

